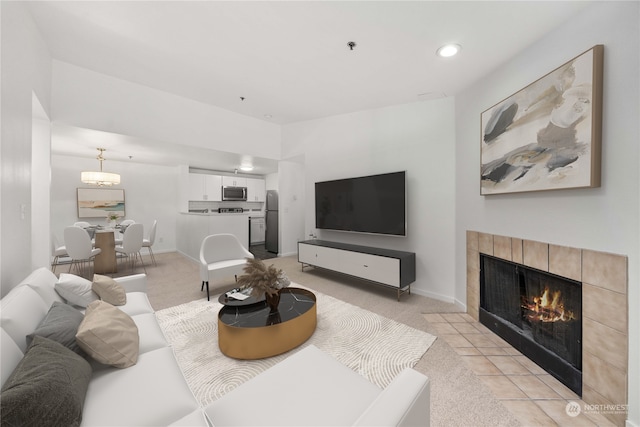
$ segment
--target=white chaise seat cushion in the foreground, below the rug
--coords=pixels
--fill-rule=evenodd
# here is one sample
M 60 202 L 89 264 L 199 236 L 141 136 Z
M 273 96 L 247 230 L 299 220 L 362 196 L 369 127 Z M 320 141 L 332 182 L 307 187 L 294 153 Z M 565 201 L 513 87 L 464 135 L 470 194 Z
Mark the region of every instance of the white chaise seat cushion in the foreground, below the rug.
M 265 398 L 274 394 L 277 397 Z M 309 345 L 242 383 L 205 408 L 213 425 L 352 425 L 381 390 L 329 354 Z M 313 396 L 322 396 L 319 405 Z M 247 410 L 248 403 L 251 410 Z

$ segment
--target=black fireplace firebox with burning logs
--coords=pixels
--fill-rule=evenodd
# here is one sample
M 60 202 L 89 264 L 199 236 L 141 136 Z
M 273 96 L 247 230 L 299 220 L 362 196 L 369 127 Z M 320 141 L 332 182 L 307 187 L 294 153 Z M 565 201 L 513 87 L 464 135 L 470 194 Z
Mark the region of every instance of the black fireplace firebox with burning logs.
M 480 322 L 582 396 L 582 284 L 480 254 Z

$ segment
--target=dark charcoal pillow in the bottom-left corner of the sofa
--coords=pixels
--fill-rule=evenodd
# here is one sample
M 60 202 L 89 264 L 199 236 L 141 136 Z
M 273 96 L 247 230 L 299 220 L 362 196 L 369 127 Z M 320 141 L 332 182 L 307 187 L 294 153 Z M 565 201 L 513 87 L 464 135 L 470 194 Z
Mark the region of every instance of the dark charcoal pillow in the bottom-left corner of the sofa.
M 2 425 L 77 426 L 91 379 L 82 357 L 36 336 L 2 388 Z

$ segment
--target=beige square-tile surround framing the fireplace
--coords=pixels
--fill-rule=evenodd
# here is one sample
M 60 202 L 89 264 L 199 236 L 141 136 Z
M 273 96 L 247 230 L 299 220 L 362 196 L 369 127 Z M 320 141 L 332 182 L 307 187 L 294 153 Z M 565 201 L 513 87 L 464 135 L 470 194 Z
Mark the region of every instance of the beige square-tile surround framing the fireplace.
M 467 231 L 467 313 L 475 320 L 481 253 L 582 282 L 582 400 L 589 405 L 626 405 L 627 257 Z M 624 425 L 626 416 L 608 418 Z

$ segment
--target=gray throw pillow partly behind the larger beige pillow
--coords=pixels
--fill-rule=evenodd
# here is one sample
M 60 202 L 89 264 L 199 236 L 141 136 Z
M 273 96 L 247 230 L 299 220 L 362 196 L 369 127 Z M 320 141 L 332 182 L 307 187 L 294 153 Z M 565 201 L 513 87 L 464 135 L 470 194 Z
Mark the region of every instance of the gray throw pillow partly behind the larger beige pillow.
M 39 335 L 60 343 L 84 356 L 84 351 L 76 342 L 78 326 L 80 326 L 82 319 L 84 319 L 84 314 L 68 304 L 55 301 L 49 308 L 47 315 L 40 322 L 40 325 L 27 335 L 27 346 L 31 344 L 33 337 Z

